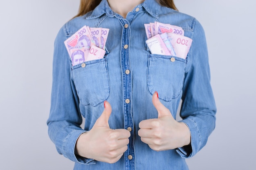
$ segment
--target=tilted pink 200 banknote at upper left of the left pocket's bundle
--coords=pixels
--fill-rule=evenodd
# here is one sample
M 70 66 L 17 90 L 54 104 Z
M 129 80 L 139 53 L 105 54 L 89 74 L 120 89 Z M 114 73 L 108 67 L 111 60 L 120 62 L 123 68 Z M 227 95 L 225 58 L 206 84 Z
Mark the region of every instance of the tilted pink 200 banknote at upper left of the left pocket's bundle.
M 95 46 L 95 43 L 87 26 L 83 26 L 81 29 L 79 29 L 79 31 L 77 31 L 66 41 L 64 41 L 64 43 L 70 56 L 70 50 L 73 48 L 90 47 L 92 45 Z

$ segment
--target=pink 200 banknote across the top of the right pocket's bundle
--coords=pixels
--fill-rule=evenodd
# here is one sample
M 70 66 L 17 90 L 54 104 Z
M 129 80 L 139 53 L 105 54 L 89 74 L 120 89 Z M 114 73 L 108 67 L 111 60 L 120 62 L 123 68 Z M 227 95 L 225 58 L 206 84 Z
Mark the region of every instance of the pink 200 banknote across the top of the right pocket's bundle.
M 161 22 L 155 22 L 155 34 L 162 34 L 162 33 L 175 33 L 177 35 L 184 36 L 184 30 L 175 25 L 171 24 L 163 24 Z

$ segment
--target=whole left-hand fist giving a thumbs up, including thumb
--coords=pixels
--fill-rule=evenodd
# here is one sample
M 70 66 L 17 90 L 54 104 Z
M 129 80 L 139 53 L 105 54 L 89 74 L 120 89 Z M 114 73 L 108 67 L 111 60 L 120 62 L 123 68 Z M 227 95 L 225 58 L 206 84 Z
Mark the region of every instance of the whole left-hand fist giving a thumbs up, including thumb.
M 97 161 L 115 163 L 128 148 L 130 132 L 126 129 L 110 129 L 108 119 L 112 109 L 107 101 L 104 106 L 104 111 L 92 129 L 77 139 L 76 154 Z

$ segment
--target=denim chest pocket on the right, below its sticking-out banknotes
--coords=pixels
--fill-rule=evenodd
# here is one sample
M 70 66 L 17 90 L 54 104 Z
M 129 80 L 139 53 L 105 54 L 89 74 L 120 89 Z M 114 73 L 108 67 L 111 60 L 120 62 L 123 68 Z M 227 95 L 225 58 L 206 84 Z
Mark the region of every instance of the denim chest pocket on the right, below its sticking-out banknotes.
M 177 98 L 183 87 L 186 60 L 159 54 L 148 54 L 148 92 L 158 92 L 159 98 L 170 102 Z

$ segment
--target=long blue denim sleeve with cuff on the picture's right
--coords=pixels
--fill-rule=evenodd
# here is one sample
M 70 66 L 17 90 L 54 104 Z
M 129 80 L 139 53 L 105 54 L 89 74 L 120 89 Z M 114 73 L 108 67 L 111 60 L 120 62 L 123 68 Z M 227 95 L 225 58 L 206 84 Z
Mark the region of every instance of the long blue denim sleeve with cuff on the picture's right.
M 176 150 L 184 158 L 192 157 L 206 144 L 216 121 L 206 38 L 201 24 L 195 19 L 193 23 L 180 111 L 181 122 L 191 132 L 191 144 Z

